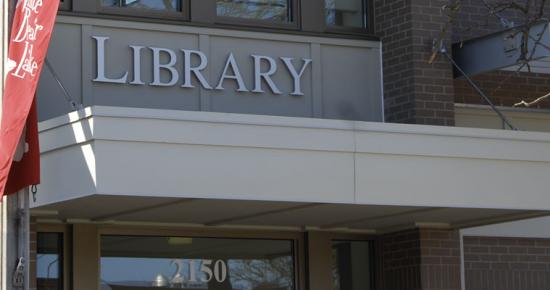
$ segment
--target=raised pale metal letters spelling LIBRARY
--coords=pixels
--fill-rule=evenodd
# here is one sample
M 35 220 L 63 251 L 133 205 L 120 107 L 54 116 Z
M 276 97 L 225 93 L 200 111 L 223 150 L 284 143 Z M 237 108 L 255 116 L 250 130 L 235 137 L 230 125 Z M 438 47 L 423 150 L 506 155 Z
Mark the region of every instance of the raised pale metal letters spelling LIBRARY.
M 289 94 L 291 96 L 303 96 L 302 77 L 311 66 L 312 60 L 308 58 L 296 59 L 292 57 L 279 57 L 278 59 L 265 55 L 250 55 L 250 64 L 253 66 L 253 85 L 247 86 L 241 74 L 241 67 L 244 64 L 239 64 L 233 53 L 229 53 L 225 60 L 223 70 L 220 71 L 218 79 L 207 79 L 203 73 L 208 67 L 208 56 L 198 50 L 173 49 L 128 45 L 132 58 L 132 79 L 128 77 L 130 68 L 124 72 L 116 73 L 110 71 L 106 59 L 106 42 L 109 37 L 92 36 L 96 45 L 96 76 L 93 79 L 98 83 L 113 83 L 113 84 L 130 84 L 130 85 L 148 85 L 156 87 L 173 87 L 180 86 L 182 88 L 195 88 L 192 77 L 194 76 L 203 89 L 206 90 L 225 90 L 226 82 L 234 82 L 237 92 L 252 92 L 262 94 L 265 89 L 269 89 L 275 95 Z M 142 55 L 145 53 L 152 54 L 152 77 L 150 80 L 142 78 Z M 178 58 L 182 58 L 182 67 L 177 67 Z M 198 64 L 192 64 L 192 58 L 198 58 Z M 246 67 L 249 67 L 246 64 Z M 278 71 L 284 70 L 293 80 L 292 89 L 289 92 L 283 92 L 280 86 L 274 81 L 272 76 Z M 167 78 L 162 78 L 161 75 Z

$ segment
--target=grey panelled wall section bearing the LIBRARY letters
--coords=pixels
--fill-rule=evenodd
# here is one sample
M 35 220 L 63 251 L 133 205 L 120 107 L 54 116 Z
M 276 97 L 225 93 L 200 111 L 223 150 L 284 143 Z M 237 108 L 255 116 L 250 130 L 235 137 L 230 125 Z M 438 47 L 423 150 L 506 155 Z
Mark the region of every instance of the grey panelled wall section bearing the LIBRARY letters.
M 384 119 L 377 41 L 59 19 L 48 57 L 85 106 Z M 63 93 L 49 72 L 39 92 L 47 100 Z M 43 120 L 66 113 L 38 103 Z

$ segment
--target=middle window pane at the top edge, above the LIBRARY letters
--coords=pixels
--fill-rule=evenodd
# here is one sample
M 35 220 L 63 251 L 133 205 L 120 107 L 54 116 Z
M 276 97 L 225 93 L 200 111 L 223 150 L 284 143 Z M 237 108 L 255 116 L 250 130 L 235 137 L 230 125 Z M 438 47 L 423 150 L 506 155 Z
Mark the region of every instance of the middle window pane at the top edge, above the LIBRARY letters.
M 216 11 L 218 16 L 284 23 L 292 21 L 290 0 L 216 0 Z

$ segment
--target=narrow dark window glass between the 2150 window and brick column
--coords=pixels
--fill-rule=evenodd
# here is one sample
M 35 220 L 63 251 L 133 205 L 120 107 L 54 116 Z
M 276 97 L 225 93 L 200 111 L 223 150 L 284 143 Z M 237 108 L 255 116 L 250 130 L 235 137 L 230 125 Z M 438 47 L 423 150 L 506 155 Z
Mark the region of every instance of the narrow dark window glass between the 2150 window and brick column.
M 373 288 L 373 253 L 369 241 L 332 242 L 332 278 L 334 290 Z

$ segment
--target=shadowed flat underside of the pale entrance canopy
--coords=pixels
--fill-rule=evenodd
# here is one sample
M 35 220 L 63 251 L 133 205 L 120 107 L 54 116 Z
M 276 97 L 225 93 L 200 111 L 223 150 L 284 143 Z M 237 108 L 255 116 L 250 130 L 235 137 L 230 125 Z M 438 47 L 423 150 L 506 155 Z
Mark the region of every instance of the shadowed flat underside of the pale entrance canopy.
M 39 219 L 68 223 L 272 228 L 384 233 L 413 227 L 464 228 L 549 215 L 548 211 L 214 200 L 94 195 L 42 206 Z

